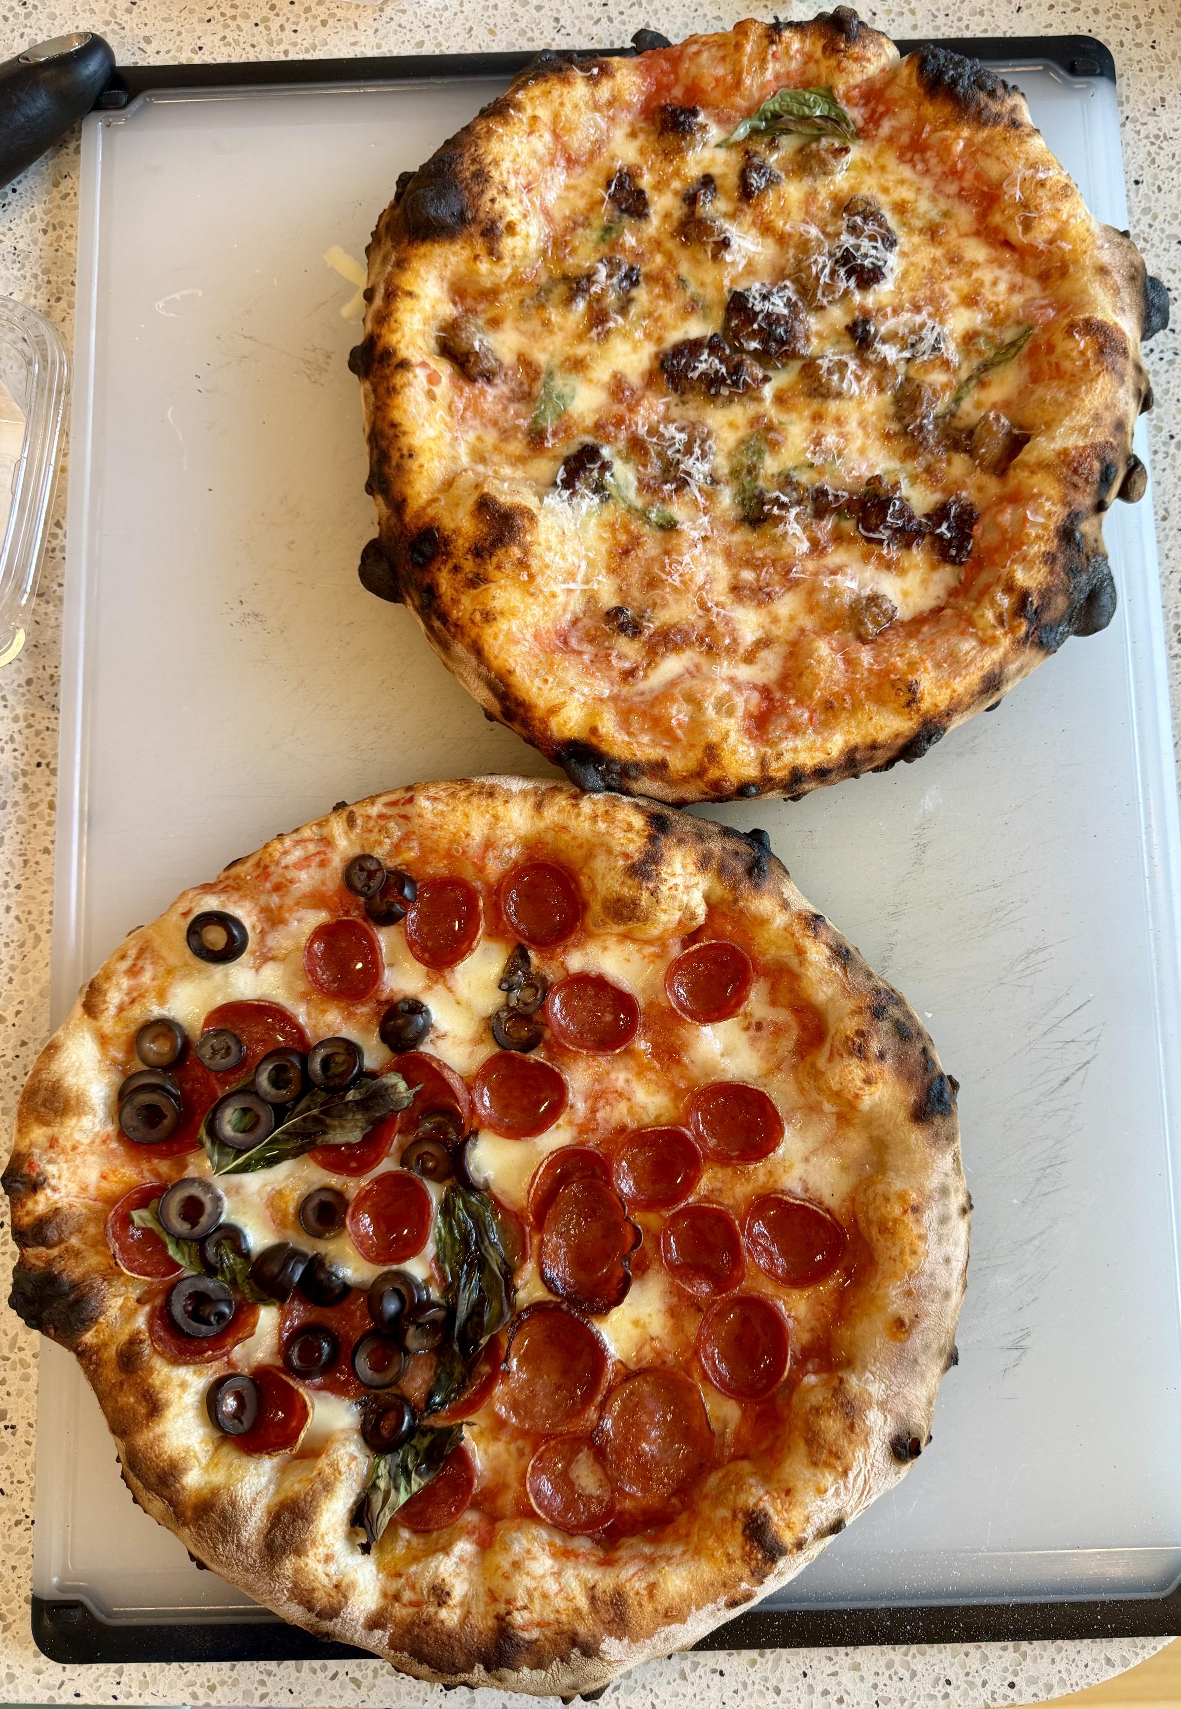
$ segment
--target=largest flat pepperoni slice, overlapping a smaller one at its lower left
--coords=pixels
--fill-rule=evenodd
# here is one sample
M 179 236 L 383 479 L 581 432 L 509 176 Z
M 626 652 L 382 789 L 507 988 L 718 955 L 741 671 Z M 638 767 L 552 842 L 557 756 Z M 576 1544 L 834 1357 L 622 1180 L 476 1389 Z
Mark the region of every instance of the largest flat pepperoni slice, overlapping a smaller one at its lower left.
M 701 1389 L 680 1371 L 649 1367 L 624 1377 L 603 1408 L 607 1471 L 629 1495 L 660 1502 L 713 1463 Z

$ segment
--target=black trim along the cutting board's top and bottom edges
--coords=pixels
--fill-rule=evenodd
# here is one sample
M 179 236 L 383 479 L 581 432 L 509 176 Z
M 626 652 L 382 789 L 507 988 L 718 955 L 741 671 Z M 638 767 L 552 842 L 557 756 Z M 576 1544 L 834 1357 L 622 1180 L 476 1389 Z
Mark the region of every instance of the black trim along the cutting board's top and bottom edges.
M 993 63 L 1053 65 L 1068 77 L 1116 80 L 1111 51 L 1092 36 L 964 38 L 935 43 Z M 899 41 L 902 53 L 926 46 Z M 622 50 L 578 50 L 578 58 Z M 125 108 L 149 91 L 270 89 L 388 84 L 427 79 L 508 79 L 535 53 L 393 55 L 357 60 L 260 60 L 234 65 L 121 65 L 99 109 Z M 393 186 L 391 186 L 393 190 Z M 1162 1596 L 1085 1601 L 940 1603 L 855 1608 L 750 1608 L 704 1637 L 697 1649 L 803 1649 L 856 1644 L 990 1644 L 1037 1639 L 1174 1637 L 1181 1586 Z M 273 1618 L 109 1624 L 80 1601 L 32 1598 L 32 1639 L 51 1661 L 195 1663 L 373 1659 L 369 1651 L 311 1637 Z

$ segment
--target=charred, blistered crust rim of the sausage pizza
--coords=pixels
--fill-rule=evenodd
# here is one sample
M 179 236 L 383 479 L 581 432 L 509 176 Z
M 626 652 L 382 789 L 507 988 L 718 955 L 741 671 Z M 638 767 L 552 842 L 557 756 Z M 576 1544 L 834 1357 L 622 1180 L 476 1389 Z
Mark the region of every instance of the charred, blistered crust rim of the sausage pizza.
M 1000 191 L 986 227 L 990 253 L 1019 255 L 1053 302 L 1041 342 L 1046 373 L 1058 378 L 1032 381 L 1022 400 L 1037 432 L 1017 465 L 1020 477 L 983 482 L 995 514 L 984 511 L 981 530 L 1002 530 L 1002 543 L 969 559 L 943 602 L 894 622 L 870 644 L 858 648 L 844 632 L 815 644 L 807 634 L 788 636 L 783 680 L 810 716 L 784 714 L 767 730 L 752 711 L 762 667 L 749 660 L 778 646 L 795 619 L 776 617 L 773 602 L 773 615 L 743 617 L 738 641 L 726 629 L 735 620 L 732 596 L 720 598 L 726 620 L 713 629 L 694 627 L 692 607 L 670 603 L 661 634 L 690 637 L 680 687 L 661 699 L 663 655 L 617 643 L 595 627 L 595 602 L 567 593 L 583 561 L 602 557 L 607 583 L 615 571 L 626 574 L 638 550 L 634 523 L 603 513 L 595 528 L 610 538 L 588 537 L 583 559 L 583 523 L 571 525 L 550 502 L 532 465 L 523 472 L 508 453 L 497 461 L 477 439 L 465 449 L 465 412 L 480 388 L 439 354 L 438 328 L 456 302 L 487 301 L 514 289 L 518 277 L 543 275 L 564 162 L 585 162 L 596 183 L 605 179 L 612 126 L 620 113 L 648 111 L 653 80 L 673 97 L 689 89 L 702 103 L 699 91 L 709 89 L 709 118 L 726 126 L 784 84 L 831 85 L 855 111 L 889 99 L 906 116 L 904 128 L 937 138 L 920 147 L 920 178 L 926 171 L 954 198 L 947 162 L 962 157 L 972 162 L 972 195 Z M 908 149 L 914 135 L 904 137 Z M 1061 265 L 1046 256 L 1063 256 Z M 749 282 L 742 272 L 737 279 Z M 680 803 L 796 796 L 889 769 L 993 706 L 1068 636 L 1111 620 L 1116 591 L 1102 514 L 1121 490 L 1140 490 L 1131 434 L 1150 402 L 1140 359 L 1143 263 L 1126 236 L 1090 217 L 1020 92 L 957 55 L 928 48 L 899 60 L 885 36 L 837 9 L 808 24 L 743 22 L 636 60 L 549 60 L 439 149 L 385 210 L 366 296 L 366 337 L 350 364 L 362 381 L 379 537 L 366 549 L 362 581 L 405 602 L 480 706 L 581 788 Z M 860 313 L 856 302 L 848 313 Z M 511 396 L 502 408 L 511 415 Z M 581 424 L 554 458 L 585 431 Z M 708 543 L 679 543 L 684 530 L 667 538 L 709 562 Z M 747 542 L 752 574 L 774 569 L 764 540 Z M 586 658 L 581 643 L 569 641 L 579 624 L 593 629 Z M 660 706 L 651 721 L 649 685 Z

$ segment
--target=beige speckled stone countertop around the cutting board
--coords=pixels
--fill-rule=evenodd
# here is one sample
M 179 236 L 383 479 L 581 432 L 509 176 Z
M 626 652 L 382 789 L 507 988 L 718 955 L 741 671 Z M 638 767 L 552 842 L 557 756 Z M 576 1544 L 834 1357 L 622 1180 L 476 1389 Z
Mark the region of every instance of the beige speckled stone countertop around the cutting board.
M 755 9 L 761 10 L 761 9 Z M 783 5 L 805 17 L 808 5 Z M 277 60 L 460 48 L 561 48 L 626 43 L 639 26 L 679 38 L 749 15 L 694 0 L 0 0 L 0 60 L 70 29 L 99 31 L 123 63 Z M 1174 328 L 1149 347 L 1155 518 L 1167 617 L 1174 721 L 1181 714 L 1181 5 L 1178 0 L 961 0 L 890 3 L 863 14 L 894 36 L 1099 36 L 1119 72 L 1131 231 L 1149 268 L 1172 284 Z M 79 138 L 0 191 L 0 292 L 46 313 L 67 342 L 73 320 Z M 50 538 L 36 624 L 0 672 L 0 1155 L 19 1089 L 50 1015 L 53 815 L 58 749 L 63 494 Z M 0 1273 L 12 1251 L 0 1232 Z M 7 1285 L 5 1290 L 7 1292 Z M 36 1343 L 0 1306 L 0 1702 L 419 1706 L 439 1692 L 373 1663 L 63 1668 L 29 1634 Z M 918 1709 L 1024 1704 L 1078 1690 L 1160 1647 L 1135 1642 L 923 1646 L 909 1649 L 687 1654 L 651 1663 L 612 1687 L 627 1709 L 773 1704 Z M 448 1709 L 494 1709 L 496 1692 L 453 1692 Z M 521 1699 L 516 1699 L 521 1702 Z

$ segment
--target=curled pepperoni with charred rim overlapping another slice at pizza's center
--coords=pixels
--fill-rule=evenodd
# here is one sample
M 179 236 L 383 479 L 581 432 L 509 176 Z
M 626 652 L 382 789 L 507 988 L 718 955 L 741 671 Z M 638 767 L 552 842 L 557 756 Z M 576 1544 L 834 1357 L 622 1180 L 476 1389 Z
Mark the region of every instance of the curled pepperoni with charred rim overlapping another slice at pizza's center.
M 641 1234 L 619 1198 L 595 1176 L 567 1181 L 542 1225 L 542 1282 L 578 1311 L 612 1311 L 631 1287 L 629 1258 Z

